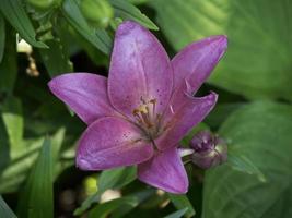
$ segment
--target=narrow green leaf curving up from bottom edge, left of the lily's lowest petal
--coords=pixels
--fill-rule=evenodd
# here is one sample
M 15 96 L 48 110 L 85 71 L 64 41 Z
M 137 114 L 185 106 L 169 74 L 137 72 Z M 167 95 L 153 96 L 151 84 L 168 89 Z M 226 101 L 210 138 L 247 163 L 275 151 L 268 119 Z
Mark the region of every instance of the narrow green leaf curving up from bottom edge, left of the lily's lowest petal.
M 95 206 L 89 214 L 89 218 L 106 218 L 110 213 L 120 207 L 136 207 L 139 204 L 137 197 L 121 197 Z

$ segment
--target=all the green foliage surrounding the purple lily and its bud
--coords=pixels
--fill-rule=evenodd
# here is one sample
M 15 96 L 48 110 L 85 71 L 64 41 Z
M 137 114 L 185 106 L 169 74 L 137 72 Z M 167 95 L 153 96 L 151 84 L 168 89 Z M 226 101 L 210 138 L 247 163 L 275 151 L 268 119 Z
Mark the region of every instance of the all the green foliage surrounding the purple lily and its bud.
M 292 217 L 291 0 L 101 0 L 82 9 L 89 2 L 0 2 L 0 217 Z M 219 93 L 200 128 L 229 142 L 229 161 L 206 172 L 186 166 L 187 195 L 148 187 L 135 168 L 74 167 L 85 125 L 47 82 L 72 71 L 107 75 L 122 20 L 152 29 L 171 57 L 202 37 L 229 37 L 227 53 L 198 93 Z M 21 38 L 32 51 L 16 49 Z M 102 203 L 107 190 L 121 197 Z

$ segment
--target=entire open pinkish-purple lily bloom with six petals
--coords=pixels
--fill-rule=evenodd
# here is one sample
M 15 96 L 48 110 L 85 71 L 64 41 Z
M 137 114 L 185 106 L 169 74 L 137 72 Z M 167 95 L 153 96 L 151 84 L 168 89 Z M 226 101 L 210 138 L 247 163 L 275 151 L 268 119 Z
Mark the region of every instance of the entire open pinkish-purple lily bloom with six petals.
M 144 27 L 127 21 L 116 31 L 108 78 L 70 73 L 50 90 L 89 125 L 77 166 L 104 170 L 138 165 L 138 178 L 171 193 L 186 193 L 177 149 L 182 137 L 210 112 L 217 94 L 192 97 L 226 49 L 225 36 L 187 46 L 172 61 Z

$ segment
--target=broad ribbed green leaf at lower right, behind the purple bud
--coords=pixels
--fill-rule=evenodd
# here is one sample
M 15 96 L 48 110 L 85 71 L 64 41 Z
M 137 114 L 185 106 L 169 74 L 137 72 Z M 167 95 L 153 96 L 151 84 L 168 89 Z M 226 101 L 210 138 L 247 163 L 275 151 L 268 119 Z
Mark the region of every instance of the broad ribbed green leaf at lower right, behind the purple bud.
M 229 147 L 246 156 L 266 177 L 222 165 L 207 171 L 203 218 L 292 217 L 292 107 L 254 102 L 234 112 L 220 129 Z

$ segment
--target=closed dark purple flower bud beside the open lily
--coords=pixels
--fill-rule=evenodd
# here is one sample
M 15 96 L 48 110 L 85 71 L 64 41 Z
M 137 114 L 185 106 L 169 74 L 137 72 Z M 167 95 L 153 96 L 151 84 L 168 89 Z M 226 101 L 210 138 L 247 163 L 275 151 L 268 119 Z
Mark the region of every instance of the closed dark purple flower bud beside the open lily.
M 226 143 L 209 131 L 201 131 L 190 141 L 195 150 L 192 162 L 202 169 L 209 169 L 227 160 Z

